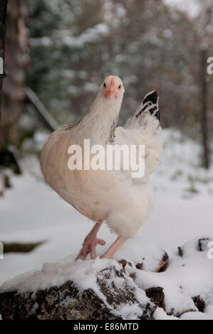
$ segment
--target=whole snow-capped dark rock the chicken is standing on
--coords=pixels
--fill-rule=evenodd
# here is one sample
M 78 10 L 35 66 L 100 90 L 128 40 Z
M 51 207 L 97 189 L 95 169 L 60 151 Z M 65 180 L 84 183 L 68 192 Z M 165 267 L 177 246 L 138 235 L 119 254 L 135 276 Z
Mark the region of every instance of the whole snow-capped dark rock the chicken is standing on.
M 150 319 L 155 304 L 115 261 L 45 264 L 1 287 L 3 319 Z

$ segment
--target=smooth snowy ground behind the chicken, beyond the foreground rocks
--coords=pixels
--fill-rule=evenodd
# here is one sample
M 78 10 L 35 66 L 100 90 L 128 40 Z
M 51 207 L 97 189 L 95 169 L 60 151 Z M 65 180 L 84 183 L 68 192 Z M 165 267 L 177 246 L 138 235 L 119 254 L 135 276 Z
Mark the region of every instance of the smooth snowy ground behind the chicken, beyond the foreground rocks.
M 165 131 L 165 153 L 159 170 L 152 176 L 157 195 L 155 208 L 137 234 L 150 247 L 159 244 L 174 254 L 177 246 L 189 239 L 213 235 L 213 173 L 197 167 L 198 156 L 199 146 L 182 141 L 177 131 Z M 35 169 L 32 161 L 29 169 Z M 6 254 L 0 259 L 0 284 L 43 262 L 53 262 L 69 254 L 74 258 L 93 226 L 48 188 L 38 172 L 36 177 L 28 172 L 13 176 L 11 181 L 13 188 L 0 200 L 0 239 L 45 243 L 31 253 Z M 115 239 L 105 226 L 99 235 L 108 243 Z M 99 254 L 106 247 L 108 244 L 100 247 Z

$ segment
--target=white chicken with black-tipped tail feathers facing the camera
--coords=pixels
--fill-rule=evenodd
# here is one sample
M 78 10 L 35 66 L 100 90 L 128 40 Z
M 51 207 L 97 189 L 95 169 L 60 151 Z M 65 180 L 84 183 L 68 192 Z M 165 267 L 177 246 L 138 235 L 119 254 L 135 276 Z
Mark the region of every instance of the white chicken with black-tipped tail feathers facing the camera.
M 144 224 L 154 203 L 149 176 L 155 171 L 162 153 L 162 129 L 157 92 L 143 99 L 124 127 L 117 126 L 125 90 L 117 76 L 108 76 L 80 122 L 63 126 L 49 136 L 41 152 L 41 170 L 48 185 L 85 217 L 95 222 L 83 242 L 77 259 L 90 254 L 95 259 L 100 225 L 106 222 L 118 238 L 103 258 L 110 259 L 123 243 Z M 133 179 L 130 171 L 73 170 L 68 168 L 68 147 L 90 145 L 145 145 L 145 176 Z

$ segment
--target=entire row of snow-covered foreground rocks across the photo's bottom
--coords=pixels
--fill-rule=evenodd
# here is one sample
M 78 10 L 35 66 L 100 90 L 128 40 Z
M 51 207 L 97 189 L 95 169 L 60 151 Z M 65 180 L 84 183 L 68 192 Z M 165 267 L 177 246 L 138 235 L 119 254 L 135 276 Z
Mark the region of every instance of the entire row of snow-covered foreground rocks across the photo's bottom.
M 212 237 L 187 242 L 167 256 L 140 239 L 126 259 L 73 262 L 67 257 L 6 281 L 0 288 L 3 319 L 213 319 Z M 132 244 L 132 246 L 131 246 Z M 140 247 L 141 245 L 141 247 Z M 137 250 L 137 251 L 136 251 Z M 144 265 L 139 266 L 138 264 Z

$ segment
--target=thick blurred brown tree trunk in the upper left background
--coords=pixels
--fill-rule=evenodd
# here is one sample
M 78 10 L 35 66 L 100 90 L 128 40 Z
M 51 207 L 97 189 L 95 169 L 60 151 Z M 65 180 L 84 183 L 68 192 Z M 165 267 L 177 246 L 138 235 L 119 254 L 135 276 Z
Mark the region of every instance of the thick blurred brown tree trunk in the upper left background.
M 23 111 L 25 69 L 28 65 L 26 15 L 26 0 L 9 1 L 6 18 L 6 78 L 3 87 L 0 150 L 8 144 L 19 145 L 18 124 Z

